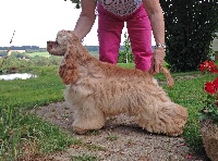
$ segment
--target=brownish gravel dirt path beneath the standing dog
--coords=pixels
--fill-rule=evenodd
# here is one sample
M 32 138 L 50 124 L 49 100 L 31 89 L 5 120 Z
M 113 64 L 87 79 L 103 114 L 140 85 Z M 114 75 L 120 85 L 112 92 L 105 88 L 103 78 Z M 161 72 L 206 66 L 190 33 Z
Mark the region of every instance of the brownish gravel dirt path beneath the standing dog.
M 72 145 L 65 151 L 47 156 L 46 160 L 72 161 L 84 154 L 96 157 L 94 160 L 100 161 L 205 160 L 203 156 L 193 153 L 182 137 L 150 134 L 124 114 L 108 119 L 104 128 L 98 132 L 76 135 L 71 128 L 73 111 L 66 102 L 40 107 L 35 112 L 44 120 L 71 132 L 73 137 L 83 143 L 83 146 Z

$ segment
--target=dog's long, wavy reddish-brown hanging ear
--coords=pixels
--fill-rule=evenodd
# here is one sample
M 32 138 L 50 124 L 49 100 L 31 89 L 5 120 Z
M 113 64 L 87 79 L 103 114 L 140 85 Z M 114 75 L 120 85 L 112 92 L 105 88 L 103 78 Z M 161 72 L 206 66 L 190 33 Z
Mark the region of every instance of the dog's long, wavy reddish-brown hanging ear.
M 59 75 L 63 84 L 69 85 L 75 83 L 78 78 L 77 63 L 76 63 L 76 48 L 70 46 L 65 50 L 64 58 L 59 67 Z

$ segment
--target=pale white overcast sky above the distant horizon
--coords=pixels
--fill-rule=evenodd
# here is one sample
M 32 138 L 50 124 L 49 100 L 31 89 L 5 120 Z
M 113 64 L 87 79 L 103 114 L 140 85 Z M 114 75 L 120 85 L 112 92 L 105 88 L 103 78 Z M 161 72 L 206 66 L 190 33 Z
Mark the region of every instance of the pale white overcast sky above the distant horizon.
M 56 39 L 58 30 L 74 29 L 81 12 L 81 9 L 75 9 L 75 4 L 70 0 L 1 0 L 0 7 L 0 47 L 39 46 L 46 48 L 48 40 Z M 10 44 L 14 30 L 15 34 Z M 125 32 L 126 28 L 122 33 Z M 98 46 L 97 18 L 83 44 Z

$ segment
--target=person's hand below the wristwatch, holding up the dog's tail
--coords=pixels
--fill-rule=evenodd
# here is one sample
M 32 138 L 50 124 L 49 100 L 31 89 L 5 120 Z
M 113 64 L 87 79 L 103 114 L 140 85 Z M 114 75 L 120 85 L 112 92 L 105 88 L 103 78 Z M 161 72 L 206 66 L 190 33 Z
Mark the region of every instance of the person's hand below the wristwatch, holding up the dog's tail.
M 149 70 L 150 74 L 155 75 L 160 72 L 160 69 L 164 65 L 164 59 L 165 59 L 165 49 L 156 48 L 152 58 L 152 66 Z

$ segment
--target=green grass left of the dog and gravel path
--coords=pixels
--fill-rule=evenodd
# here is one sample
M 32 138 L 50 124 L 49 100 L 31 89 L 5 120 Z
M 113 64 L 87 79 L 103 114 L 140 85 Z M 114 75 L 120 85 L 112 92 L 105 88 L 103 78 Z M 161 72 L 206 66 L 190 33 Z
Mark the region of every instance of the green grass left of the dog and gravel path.
M 35 67 L 37 78 L 0 81 L 0 160 L 14 160 L 23 145 L 37 144 L 37 153 L 63 150 L 75 143 L 69 134 L 41 121 L 28 110 L 63 100 L 58 66 Z

